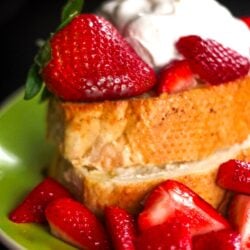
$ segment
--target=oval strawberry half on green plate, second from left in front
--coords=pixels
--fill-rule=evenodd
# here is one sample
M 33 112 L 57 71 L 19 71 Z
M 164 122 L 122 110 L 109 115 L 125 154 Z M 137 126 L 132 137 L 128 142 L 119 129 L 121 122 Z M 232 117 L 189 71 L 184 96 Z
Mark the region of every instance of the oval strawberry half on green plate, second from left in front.
M 102 224 L 84 205 L 70 198 L 57 199 L 45 210 L 52 234 L 90 250 L 109 249 Z

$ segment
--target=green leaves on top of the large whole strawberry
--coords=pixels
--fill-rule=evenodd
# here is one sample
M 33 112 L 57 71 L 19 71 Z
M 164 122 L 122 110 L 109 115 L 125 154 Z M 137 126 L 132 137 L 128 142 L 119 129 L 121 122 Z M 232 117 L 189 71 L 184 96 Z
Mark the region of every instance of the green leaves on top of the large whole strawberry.
M 62 9 L 61 24 L 56 31 L 65 27 L 75 16 L 81 13 L 84 0 L 68 0 Z M 25 83 L 24 99 L 29 100 L 35 97 L 43 86 L 43 79 L 40 75 L 42 67 L 50 60 L 51 48 L 49 39 L 40 48 L 34 58 L 34 63 L 29 69 Z

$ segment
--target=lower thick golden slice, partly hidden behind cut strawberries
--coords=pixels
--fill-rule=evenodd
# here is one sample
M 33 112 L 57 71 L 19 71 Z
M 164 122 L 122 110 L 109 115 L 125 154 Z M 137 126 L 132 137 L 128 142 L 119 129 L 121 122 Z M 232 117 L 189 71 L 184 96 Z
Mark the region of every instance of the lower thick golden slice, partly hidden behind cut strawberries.
M 178 180 L 215 208 L 225 205 L 225 190 L 215 183 L 218 166 L 229 159 L 250 159 L 250 137 L 241 144 L 219 150 L 206 159 L 164 166 L 121 167 L 103 171 L 73 166 L 57 155 L 50 175 L 76 194 L 93 212 L 101 215 L 105 206 L 118 205 L 137 213 L 146 195 L 167 179 Z

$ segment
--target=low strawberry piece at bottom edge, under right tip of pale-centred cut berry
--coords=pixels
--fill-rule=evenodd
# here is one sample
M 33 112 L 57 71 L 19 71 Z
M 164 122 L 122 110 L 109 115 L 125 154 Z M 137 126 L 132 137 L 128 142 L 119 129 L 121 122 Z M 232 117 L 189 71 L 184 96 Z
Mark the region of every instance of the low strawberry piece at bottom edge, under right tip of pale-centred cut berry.
M 217 232 L 197 235 L 193 237 L 193 250 L 240 250 L 241 237 L 231 230 L 225 229 Z

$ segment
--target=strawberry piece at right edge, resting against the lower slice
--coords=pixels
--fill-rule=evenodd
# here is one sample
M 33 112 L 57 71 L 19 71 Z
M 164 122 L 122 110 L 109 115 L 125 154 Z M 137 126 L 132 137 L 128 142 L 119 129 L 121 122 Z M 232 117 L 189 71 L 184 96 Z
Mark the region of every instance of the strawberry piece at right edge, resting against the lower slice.
M 250 194 L 250 163 L 229 160 L 221 164 L 217 184 L 231 191 Z

